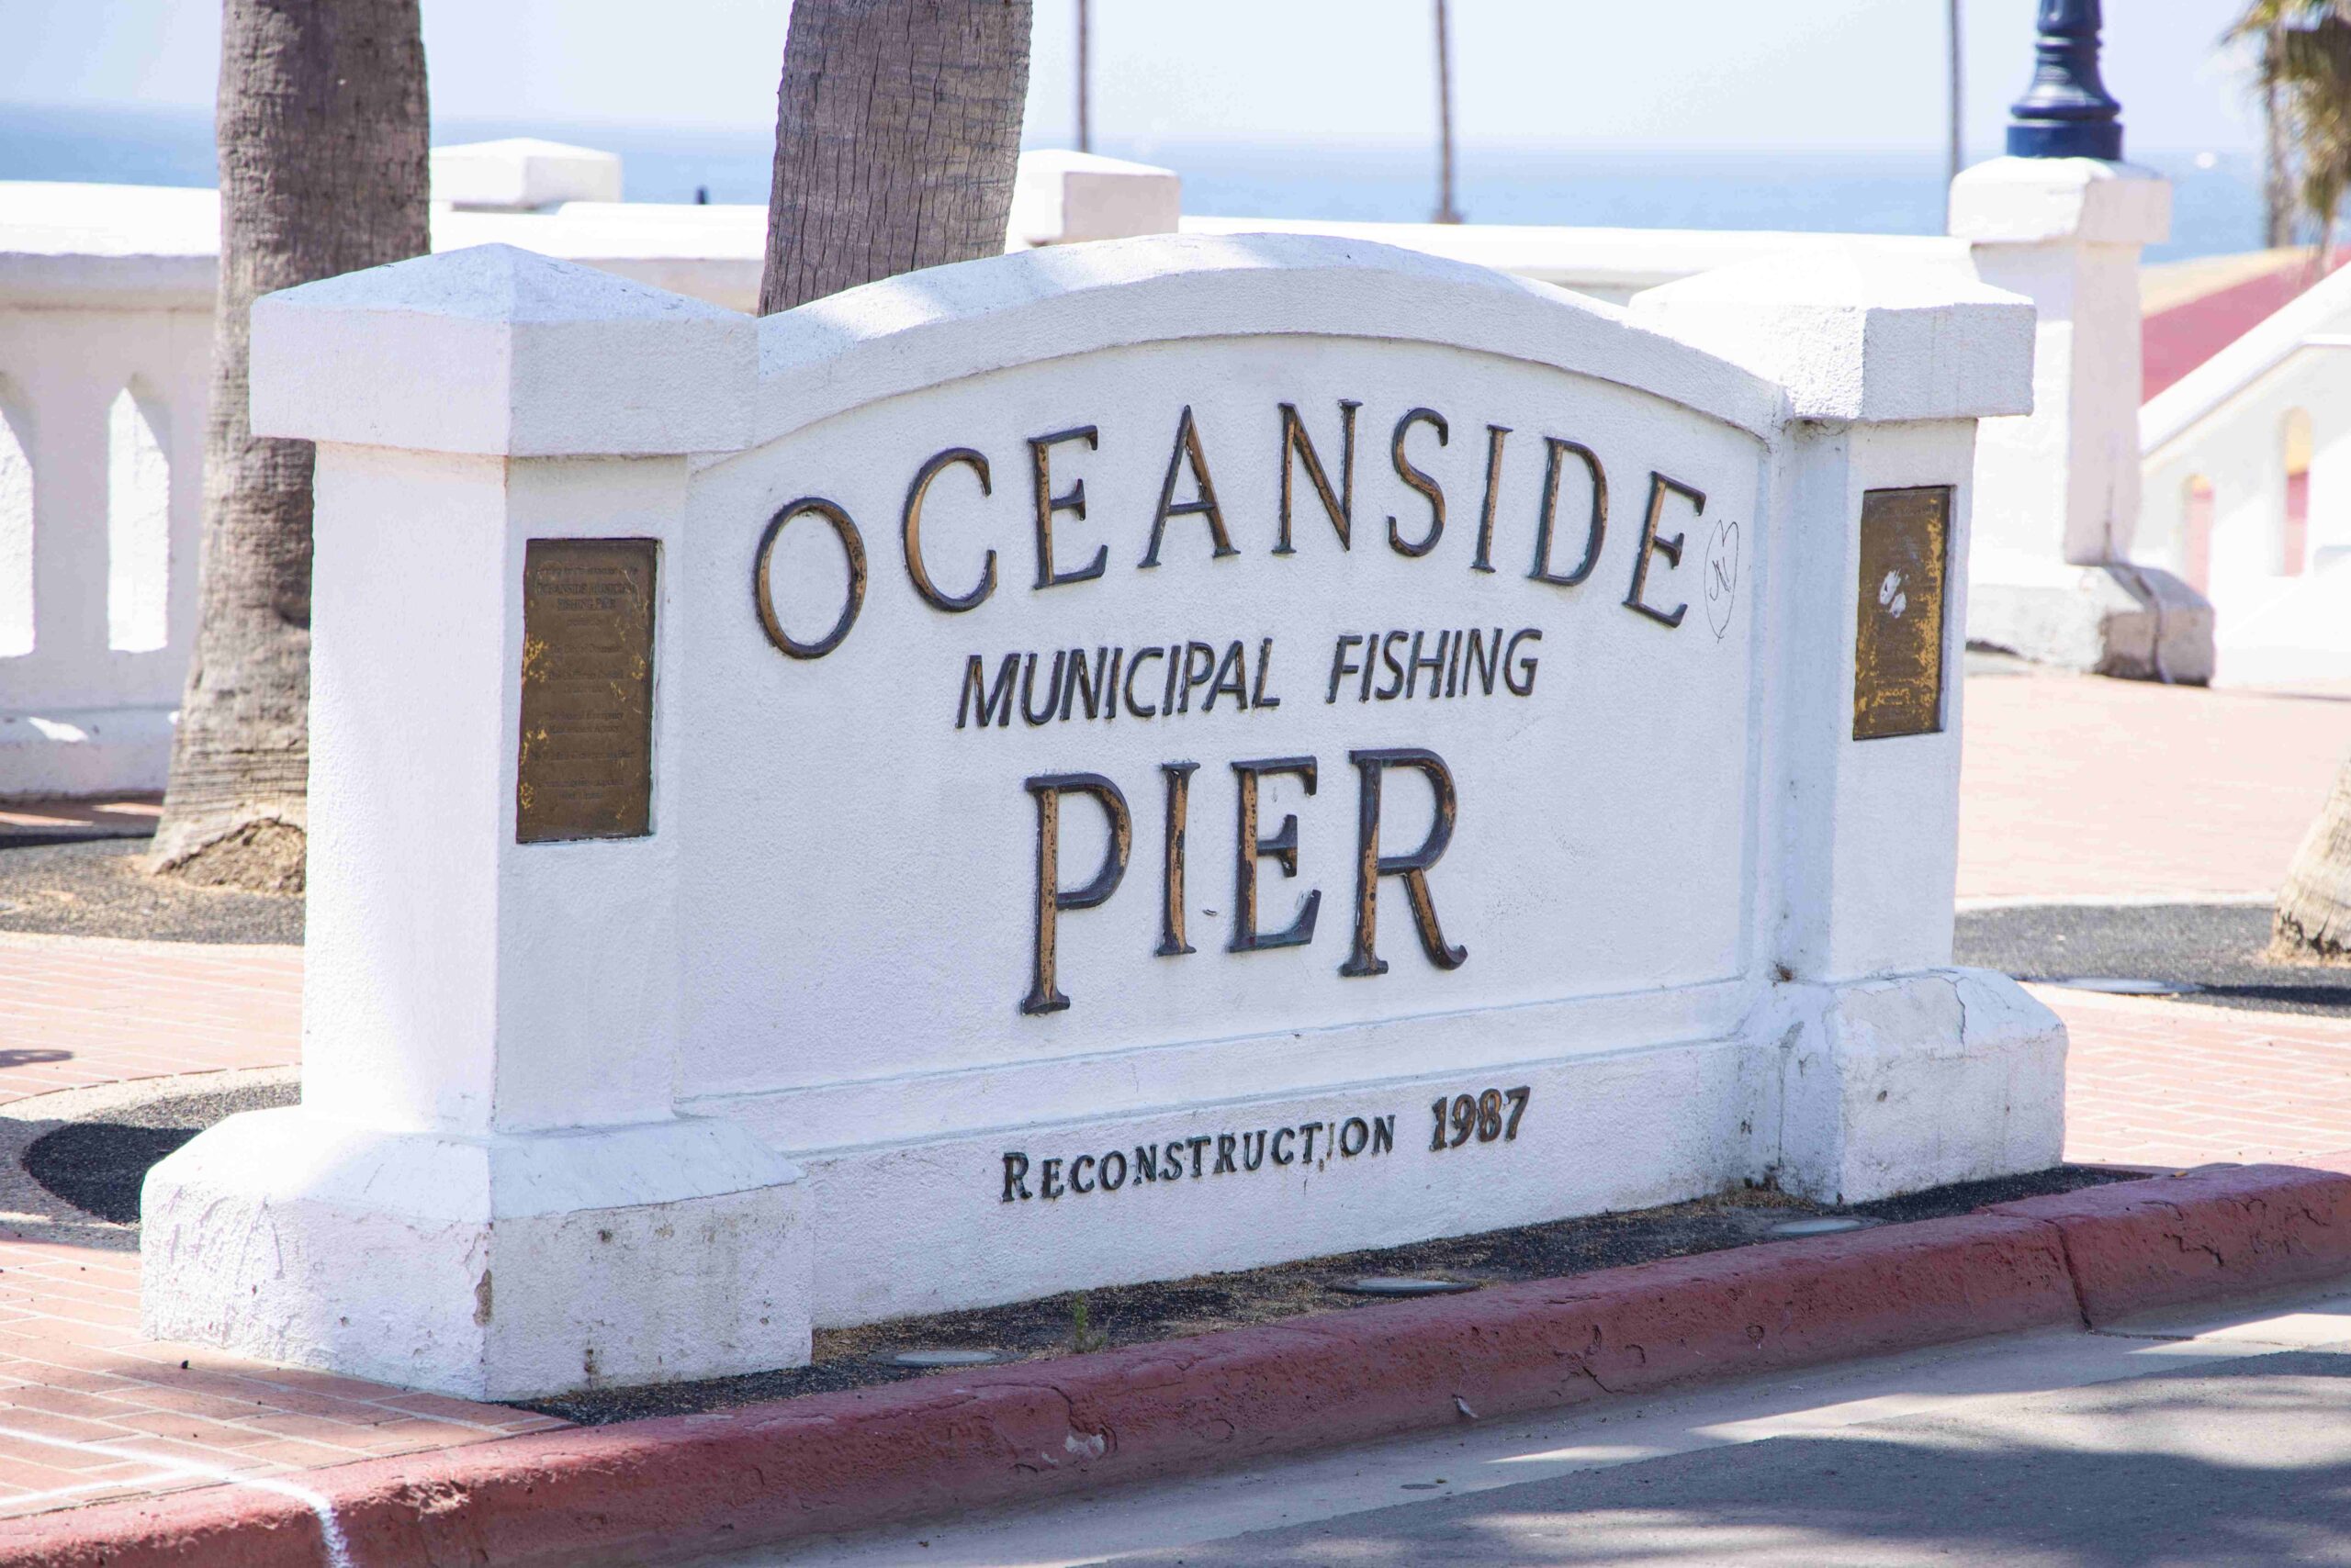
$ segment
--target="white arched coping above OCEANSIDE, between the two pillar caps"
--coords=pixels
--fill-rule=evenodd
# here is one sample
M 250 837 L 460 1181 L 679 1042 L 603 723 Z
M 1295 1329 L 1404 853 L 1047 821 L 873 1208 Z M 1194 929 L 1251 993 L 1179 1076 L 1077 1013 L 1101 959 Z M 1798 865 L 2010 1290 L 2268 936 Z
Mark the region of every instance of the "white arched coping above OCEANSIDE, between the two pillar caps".
M 1267 334 L 1545 364 L 1751 435 L 1784 416 L 1775 383 L 1545 282 L 1328 235 L 1152 235 L 926 268 L 764 317 L 752 444 L 985 371 Z

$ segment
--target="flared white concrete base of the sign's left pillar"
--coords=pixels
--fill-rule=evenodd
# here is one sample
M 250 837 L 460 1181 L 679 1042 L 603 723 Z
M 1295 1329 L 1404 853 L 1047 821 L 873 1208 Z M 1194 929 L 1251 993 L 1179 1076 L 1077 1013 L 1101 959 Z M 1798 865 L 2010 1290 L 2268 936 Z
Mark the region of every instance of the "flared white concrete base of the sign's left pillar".
M 249 1112 L 158 1164 L 141 1208 L 160 1340 L 465 1399 L 809 1359 L 806 1185 L 724 1121 L 456 1138 Z

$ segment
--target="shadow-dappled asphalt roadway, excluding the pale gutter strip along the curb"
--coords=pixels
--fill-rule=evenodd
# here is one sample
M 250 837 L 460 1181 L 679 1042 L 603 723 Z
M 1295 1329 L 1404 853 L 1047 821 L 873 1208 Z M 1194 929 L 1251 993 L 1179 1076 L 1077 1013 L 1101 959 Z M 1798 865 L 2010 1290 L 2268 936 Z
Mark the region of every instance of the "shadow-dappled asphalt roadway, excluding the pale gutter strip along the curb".
M 2276 1568 L 2351 1563 L 2351 1356 L 2288 1352 L 1991 1410 L 1406 1502 L 1119 1568 Z

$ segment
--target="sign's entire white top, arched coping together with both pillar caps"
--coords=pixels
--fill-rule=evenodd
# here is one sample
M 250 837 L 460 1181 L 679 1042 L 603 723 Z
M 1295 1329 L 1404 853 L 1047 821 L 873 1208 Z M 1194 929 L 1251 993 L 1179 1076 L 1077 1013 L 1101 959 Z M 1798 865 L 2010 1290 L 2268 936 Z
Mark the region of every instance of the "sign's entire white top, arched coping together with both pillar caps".
M 926 268 L 764 320 L 477 244 L 256 301 L 252 416 L 256 435 L 416 451 L 731 454 L 1025 364 L 1281 336 L 1458 348 L 1761 440 L 1789 418 L 2031 409 L 2031 301 L 1977 280 L 1963 242 L 1923 244 L 1768 256 L 1625 313 L 1368 240 L 1154 235 Z

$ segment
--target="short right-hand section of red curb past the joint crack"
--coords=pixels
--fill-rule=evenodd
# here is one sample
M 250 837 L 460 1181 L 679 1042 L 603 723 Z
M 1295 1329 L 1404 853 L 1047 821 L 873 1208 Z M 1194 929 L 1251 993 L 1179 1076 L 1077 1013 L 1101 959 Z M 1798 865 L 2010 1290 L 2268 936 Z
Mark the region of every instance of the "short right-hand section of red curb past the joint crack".
M 2092 1324 L 2351 1272 L 2351 1175 L 2332 1171 L 2238 1166 L 1987 1213 L 2057 1227 Z

